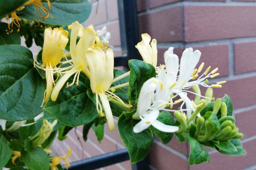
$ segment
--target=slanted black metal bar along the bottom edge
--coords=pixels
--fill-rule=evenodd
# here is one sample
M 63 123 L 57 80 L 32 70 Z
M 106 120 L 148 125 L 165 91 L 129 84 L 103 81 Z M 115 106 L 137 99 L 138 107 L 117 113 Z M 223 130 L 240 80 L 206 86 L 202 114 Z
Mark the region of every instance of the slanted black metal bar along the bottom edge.
M 126 149 L 116 150 L 99 156 L 93 156 L 83 161 L 72 162 L 68 170 L 94 170 L 129 159 Z

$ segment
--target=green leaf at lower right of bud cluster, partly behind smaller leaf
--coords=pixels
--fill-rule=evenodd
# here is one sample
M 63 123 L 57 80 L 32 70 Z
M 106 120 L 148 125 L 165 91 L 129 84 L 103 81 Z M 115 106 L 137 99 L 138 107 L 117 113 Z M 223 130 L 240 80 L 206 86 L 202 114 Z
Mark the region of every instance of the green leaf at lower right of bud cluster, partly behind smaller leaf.
M 243 149 L 243 145 L 242 145 L 242 142 L 240 139 L 230 139 L 229 141 L 236 147 L 237 151 L 227 152 L 227 151 L 224 151 L 224 150 L 221 150 L 218 148 L 217 148 L 217 150 L 220 153 L 228 155 L 228 156 L 240 156 L 240 155 L 243 155 L 244 153 L 246 153 L 246 150 Z

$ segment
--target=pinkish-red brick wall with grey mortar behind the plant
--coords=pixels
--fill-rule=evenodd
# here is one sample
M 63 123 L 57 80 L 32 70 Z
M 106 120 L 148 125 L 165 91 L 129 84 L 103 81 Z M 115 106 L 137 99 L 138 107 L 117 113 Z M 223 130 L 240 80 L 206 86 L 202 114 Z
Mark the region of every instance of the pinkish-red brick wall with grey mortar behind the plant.
M 90 1 L 90 0 L 89 0 Z M 123 54 L 117 0 L 91 1 L 93 11 L 83 26 L 93 24 L 96 29 L 108 27 L 110 45 L 115 56 Z M 169 144 L 157 137 L 149 154 L 151 170 L 254 170 L 256 169 L 256 0 L 137 0 L 139 31 L 157 39 L 158 64 L 163 64 L 163 53 L 175 47 L 179 57 L 183 49 L 192 47 L 201 51 L 201 62 L 218 67 L 220 76 L 214 82 L 227 80 L 215 97 L 227 93 L 234 104 L 236 124 L 247 153 L 229 157 L 209 150 L 210 162 L 188 164 L 189 145 L 180 144 L 175 136 Z M 23 43 L 23 45 L 25 45 Z M 135 47 L 134 47 L 135 48 Z M 36 55 L 39 48 L 32 46 Z M 200 64 L 200 63 L 199 63 Z M 117 126 L 116 126 L 117 127 Z M 81 142 L 79 142 L 79 139 Z M 110 133 L 105 128 L 101 143 L 91 129 L 87 142 L 82 138 L 82 127 L 72 129 L 63 142 L 52 145 L 56 155 L 65 155 L 73 149 L 70 161 L 81 160 L 114 150 L 124 149 L 117 128 Z M 131 170 L 130 161 L 120 162 L 101 170 Z

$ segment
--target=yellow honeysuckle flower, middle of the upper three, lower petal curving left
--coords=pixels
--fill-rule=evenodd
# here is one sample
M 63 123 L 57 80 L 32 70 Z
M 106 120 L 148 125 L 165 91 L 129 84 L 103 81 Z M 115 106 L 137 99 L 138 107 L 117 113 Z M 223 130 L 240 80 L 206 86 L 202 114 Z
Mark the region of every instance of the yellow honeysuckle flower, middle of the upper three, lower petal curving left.
M 64 63 L 69 63 L 70 66 L 66 68 L 58 68 L 57 70 L 60 74 L 64 74 L 56 83 L 55 87 L 52 90 L 51 99 L 52 101 L 56 101 L 58 94 L 61 90 L 61 88 L 64 86 L 64 84 L 67 82 L 67 80 L 73 75 L 74 79 L 73 82 L 69 85 L 67 83 L 66 87 L 69 87 L 73 84 L 78 85 L 79 83 L 79 75 L 82 71 L 89 79 L 90 79 L 90 72 L 87 64 L 86 57 L 84 56 L 87 49 L 90 47 L 90 45 L 93 43 L 95 39 L 96 31 L 93 29 L 93 26 L 88 26 L 87 28 L 83 28 L 81 24 L 79 24 L 77 21 L 73 23 L 72 26 L 69 26 L 69 28 L 72 28 L 71 31 L 71 37 L 70 37 L 70 54 L 71 54 L 71 60 L 64 61 Z M 77 37 L 80 37 L 79 42 L 76 44 Z

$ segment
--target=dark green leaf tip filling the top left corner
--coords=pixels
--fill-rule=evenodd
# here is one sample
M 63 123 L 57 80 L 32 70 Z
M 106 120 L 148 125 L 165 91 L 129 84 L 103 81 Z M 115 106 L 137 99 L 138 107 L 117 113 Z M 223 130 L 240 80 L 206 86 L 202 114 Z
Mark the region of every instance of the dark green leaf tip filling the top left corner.
M 0 19 L 19 8 L 26 1 L 28 0 L 8 0 L 8 2 L 6 0 L 0 0 Z

